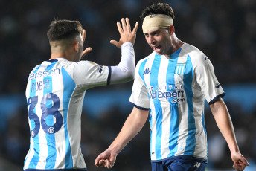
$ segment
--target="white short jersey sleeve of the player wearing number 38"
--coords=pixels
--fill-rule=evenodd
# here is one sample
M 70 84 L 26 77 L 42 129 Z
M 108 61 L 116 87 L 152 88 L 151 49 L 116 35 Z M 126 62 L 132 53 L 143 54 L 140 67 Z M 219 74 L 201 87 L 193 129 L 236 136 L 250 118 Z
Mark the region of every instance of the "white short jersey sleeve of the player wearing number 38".
M 111 68 L 95 62 L 80 61 L 74 66 L 74 81 L 86 89 L 109 84 Z

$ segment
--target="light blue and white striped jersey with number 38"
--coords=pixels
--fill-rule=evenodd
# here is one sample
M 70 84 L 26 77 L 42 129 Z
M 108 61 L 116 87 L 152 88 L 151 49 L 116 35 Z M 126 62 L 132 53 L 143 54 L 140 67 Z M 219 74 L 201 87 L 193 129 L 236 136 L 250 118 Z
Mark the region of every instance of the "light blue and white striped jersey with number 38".
M 31 146 L 24 170 L 86 170 L 80 149 L 86 89 L 109 83 L 111 68 L 63 58 L 42 62 L 28 77 Z

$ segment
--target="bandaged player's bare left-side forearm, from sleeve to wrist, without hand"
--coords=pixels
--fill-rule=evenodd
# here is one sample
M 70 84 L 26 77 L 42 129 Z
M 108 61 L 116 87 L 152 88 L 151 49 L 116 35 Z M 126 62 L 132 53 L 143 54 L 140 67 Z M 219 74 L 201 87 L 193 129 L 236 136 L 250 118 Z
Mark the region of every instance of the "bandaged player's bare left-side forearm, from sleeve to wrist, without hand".
M 115 141 L 109 146 L 109 150 L 118 155 L 122 149 L 141 131 L 147 120 L 148 111 L 141 111 L 134 108 L 132 113 L 129 114 L 127 120 L 124 123 L 124 126 L 119 132 Z

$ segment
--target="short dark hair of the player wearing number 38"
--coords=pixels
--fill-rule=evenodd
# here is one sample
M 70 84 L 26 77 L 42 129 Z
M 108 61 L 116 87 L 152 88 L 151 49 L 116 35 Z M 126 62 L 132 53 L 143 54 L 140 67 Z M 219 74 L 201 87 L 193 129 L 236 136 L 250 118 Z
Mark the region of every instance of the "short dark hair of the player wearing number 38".
M 83 33 L 83 27 L 78 21 L 57 20 L 51 22 L 48 27 L 47 36 L 49 41 L 69 39 Z

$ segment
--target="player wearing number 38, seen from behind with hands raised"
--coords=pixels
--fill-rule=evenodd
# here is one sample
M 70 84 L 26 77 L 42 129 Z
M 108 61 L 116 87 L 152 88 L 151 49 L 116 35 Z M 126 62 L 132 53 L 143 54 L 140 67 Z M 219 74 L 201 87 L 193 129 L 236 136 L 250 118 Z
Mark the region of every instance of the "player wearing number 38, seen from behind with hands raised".
M 87 170 L 80 149 L 81 112 L 86 90 L 95 86 L 124 83 L 134 77 L 138 23 L 131 31 L 129 19 L 117 23 L 121 62 L 102 66 L 80 59 L 86 31 L 78 21 L 54 20 L 48 28 L 51 58 L 28 77 L 28 123 L 31 146 L 23 170 Z

